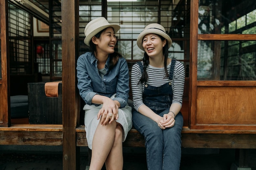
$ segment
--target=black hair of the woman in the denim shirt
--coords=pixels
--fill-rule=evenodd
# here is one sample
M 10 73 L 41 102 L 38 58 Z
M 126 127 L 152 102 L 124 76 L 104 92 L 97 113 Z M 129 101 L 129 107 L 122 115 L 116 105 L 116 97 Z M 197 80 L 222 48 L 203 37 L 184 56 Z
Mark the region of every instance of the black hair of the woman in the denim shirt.
M 111 27 L 112 28 L 112 27 Z M 107 28 L 106 28 L 107 29 Z M 96 38 L 100 38 L 101 36 L 101 33 L 103 33 L 106 29 L 103 29 L 101 30 L 99 33 L 97 33 L 96 35 L 94 35 Z M 113 28 L 112 28 L 113 29 Z M 114 30 L 114 29 L 113 29 Z M 90 40 L 90 49 L 91 49 L 91 52 L 92 53 L 96 53 L 97 54 L 97 51 L 96 51 L 96 44 L 94 44 L 92 42 L 92 40 Z M 118 62 L 119 58 L 122 57 L 122 55 L 120 53 L 117 53 L 117 52 L 114 52 L 114 53 L 111 53 L 109 55 L 110 57 L 110 62 L 109 62 L 109 69 L 111 70 Z

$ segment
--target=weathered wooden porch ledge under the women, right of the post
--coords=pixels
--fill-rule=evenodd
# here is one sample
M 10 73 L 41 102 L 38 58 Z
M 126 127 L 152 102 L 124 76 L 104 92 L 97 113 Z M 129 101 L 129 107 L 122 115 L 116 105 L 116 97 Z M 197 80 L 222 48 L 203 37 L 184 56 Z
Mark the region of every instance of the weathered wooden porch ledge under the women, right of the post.
M 76 146 L 88 146 L 84 126 L 76 128 Z M 182 147 L 184 148 L 254 148 L 256 149 L 255 133 L 235 133 L 223 130 L 191 130 L 182 129 Z M 145 147 L 144 137 L 132 128 L 128 132 L 125 147 Z

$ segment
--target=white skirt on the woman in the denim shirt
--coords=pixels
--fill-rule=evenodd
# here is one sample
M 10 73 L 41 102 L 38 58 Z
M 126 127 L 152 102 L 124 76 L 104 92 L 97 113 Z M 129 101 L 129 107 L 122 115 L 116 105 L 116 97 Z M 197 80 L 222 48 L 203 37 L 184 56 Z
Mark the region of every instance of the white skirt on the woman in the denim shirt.
M 100 119 L 97 120 L 97 114 L 102 108 L 102 105 L 94 106 L 85 104 L 83 110 L 85 110 L 85 132 L 86 139 L 88 143 L 88 148 L 92 149 L 92 139 L 96 128 L 99 124 Z M 124 108 L 118 109 L 118 119 L 116 120 L 123 127 L 123 142 L 126 139 L 126 136 L 130 129 L 132 128 L 132 108 L 127 104 Z

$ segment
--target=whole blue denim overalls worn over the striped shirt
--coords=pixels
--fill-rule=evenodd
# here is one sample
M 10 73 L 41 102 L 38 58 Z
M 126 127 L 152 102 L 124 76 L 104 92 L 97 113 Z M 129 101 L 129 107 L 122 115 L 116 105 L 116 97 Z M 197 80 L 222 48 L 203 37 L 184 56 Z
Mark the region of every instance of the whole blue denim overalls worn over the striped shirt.
M 163 117 L 169 112 L 172 103 L 173 90 L 171 79 L 173 79 L 173 71 L 175 59 L 171 61 L 169 71 L 169 82 L 162 86 L 155 87 L 145 83 L 143 102 L 156 114 Z M 143 66 L 138 62 L 141 73 Z M 136 110 L 132 112 L 133 126 L 145 138 L 146 157 L 148 170 L 179 170 L 181 159 L 181 130 L 183 126 L 183 117 L 179 113 L 175 117 L 175 125 L 172 128 L 162 130 L 155 121 L 141 115 Z

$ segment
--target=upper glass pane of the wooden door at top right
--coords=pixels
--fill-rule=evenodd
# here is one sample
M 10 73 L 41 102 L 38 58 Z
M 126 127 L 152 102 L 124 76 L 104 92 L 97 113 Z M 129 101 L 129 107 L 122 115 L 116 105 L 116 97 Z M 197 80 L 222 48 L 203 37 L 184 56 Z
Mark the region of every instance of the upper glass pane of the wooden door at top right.
M 199 34 L 251 34 L 247 30 L 255 30 L 255 22 L 256 6 L 252 0 L 199 1 Z

